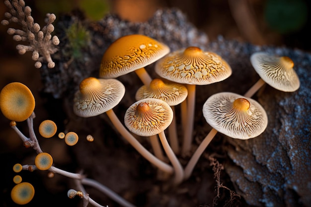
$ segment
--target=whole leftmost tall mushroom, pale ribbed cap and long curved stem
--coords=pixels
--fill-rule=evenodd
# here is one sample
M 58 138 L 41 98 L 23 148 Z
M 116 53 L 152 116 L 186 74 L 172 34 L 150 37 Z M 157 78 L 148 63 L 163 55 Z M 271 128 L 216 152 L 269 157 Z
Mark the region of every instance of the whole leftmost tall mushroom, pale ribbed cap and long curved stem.
M 156 158 L 123 126 L 112 108 L 116 106 L 125 93 L 124 85 L 117 79 L 97 79 L 87 77 L 80 83 L 74 98 L 74 112 L 80 117 L 93 117 L 106 113 L 119 133 L 148 161 L 156 167 L 173 173 L 173 168 Z

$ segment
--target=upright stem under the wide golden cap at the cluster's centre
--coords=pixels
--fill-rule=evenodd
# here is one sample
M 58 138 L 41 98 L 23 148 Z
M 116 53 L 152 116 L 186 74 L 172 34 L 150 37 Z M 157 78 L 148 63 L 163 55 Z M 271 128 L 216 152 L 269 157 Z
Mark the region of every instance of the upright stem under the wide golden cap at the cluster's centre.
M 187 120 L 185 126 L 185 132 L 183 137 L 183 145 L 181 154 L 186 155 L 191 149 L 193 121 L 194 121 L 194 105 L 195 105 L 195 87 L 196 85 L 187 85 L 188 97 L 187 97 Z

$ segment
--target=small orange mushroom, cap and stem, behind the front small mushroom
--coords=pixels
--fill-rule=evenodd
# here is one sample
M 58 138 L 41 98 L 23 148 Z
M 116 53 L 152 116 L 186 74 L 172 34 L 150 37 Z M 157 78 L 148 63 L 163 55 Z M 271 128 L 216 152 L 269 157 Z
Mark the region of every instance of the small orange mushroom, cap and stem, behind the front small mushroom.
M 188 95 L 187 88 L 176 82 L 163 82 L 159 78 L 155 78 L 151 81 L 150 85 L 143 85 L 136 92 L 136 100 L 144 98 L 157 98 L 165 101 L 171 106 L 173 113 L 176 105 L 182 103 Z M 173 117 L 172 123 L 168 127 L 169 143 L 174 153 L 179 152 L 176 119 Z

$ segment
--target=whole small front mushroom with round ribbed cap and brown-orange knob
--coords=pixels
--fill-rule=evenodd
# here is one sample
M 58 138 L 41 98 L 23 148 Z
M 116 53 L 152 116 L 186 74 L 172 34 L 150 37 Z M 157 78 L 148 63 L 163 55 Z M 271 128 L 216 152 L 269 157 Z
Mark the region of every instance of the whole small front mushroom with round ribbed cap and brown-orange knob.
M 136 135 L 159 136 L 164 151 L 174 167 L 174 184 L 177 185 L 182 182 L 183 169 L 164 134 L 172 119 L 173 111 L 166 102 L 156 98 L 145 98 L 128 108 L 124 116 L 124 124 Z

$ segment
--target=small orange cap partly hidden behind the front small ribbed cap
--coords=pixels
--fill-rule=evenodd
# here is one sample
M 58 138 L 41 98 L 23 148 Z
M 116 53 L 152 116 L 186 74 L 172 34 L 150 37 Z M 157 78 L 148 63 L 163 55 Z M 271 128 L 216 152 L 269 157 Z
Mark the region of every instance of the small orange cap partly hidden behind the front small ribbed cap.
M 155 78 L 149 86 L 143 85 L 136 92 L 136 100 L 145 98 L 157 98 L 165 101 L 170 106 L 183 102 L 188 95 L 187 88 L 175 82 L 163 82 Z

